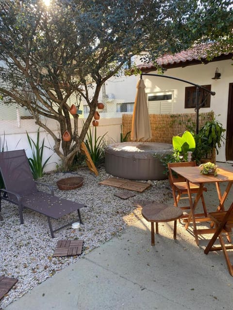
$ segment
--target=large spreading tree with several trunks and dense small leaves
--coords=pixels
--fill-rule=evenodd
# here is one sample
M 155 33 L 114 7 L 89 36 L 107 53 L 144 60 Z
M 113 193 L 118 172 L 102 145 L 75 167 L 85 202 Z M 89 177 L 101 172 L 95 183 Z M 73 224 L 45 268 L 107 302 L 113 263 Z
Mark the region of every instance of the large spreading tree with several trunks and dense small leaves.
M 0 97 L 4 104 L 17 103 L 30 111 L 35 123 L 53 138 L 64 169 L 85 138 L 101 86 L 133 55 L 156 58 L 206 41 L 210 34 L 212 40 L 226 38 L 232 27 L 229 1 L 45 2 L 0 0 Z M 212 27 L 214 7 L 218 20 Z M 69 113 L 74 95 L 77 104 L 82 99 L 89 106 L 81 132 L 79 115 Z M 57 122 L 58 134 L 48 119 Z M 62 140 L 65 131 L 70 141 Z

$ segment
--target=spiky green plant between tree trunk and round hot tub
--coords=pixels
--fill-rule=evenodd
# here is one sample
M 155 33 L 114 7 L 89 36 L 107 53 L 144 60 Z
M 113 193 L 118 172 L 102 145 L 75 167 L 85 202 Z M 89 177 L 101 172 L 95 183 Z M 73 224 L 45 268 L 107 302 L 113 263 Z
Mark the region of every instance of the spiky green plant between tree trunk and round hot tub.
M 105 133 L 102 137 L 97 138 L 97 131 L 95 127 L 95 134 L 93 139 L 91 135 L 91 128 L 89 128 L 89 134 L 87 133 L 87 139 L 84 141 L 95 166 L 99 166 L 104 162 L 104 150 L 106 147 L 106 141 L 104 137 L 106 134 L 107 133 Z

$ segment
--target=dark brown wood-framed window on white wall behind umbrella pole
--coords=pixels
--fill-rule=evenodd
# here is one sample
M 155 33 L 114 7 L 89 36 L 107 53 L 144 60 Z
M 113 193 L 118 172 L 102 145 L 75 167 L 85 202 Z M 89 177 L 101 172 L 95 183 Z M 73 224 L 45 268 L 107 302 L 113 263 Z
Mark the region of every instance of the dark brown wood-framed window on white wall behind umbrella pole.
M 201 85 L 206 88 L 208 91 L 211 91 L 211 85 Z M 203 103 L 201 108 L 210 107 L 210 93 L 206 92 L 202 88 L 196 86 L 185 87 L 185 101 L 184 108 L 196 108 L 196 96 L 198 95 L 198 104 L 199 106 Z

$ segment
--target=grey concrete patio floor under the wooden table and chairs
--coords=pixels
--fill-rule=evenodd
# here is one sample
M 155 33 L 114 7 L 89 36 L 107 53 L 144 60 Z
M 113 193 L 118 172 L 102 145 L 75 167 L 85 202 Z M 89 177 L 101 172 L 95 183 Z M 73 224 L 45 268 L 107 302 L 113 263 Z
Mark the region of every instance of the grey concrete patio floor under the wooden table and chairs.
M 204 197 L 212 211 L 217 205 L 216 188 L 206 186 Z M 231 202 L 233 188 L 225 206 Z M 203 252 L 210 236 L 200 236 L 197 246 L 192 225 L 186 231 L 178 223 L 174 241 L 173 222 L 161 223 L 151 247 L 150 223 L 139 219 L 5 309 L 231 310 L 233 277 L 223 253 Z

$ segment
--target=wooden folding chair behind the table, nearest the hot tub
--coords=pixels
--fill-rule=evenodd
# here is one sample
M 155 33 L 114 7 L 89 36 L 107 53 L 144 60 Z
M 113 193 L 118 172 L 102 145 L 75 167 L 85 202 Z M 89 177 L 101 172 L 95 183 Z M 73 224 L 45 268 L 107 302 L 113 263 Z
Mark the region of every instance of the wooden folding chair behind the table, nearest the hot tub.
M 172 194 L 173 194 L 173 199 L 174 199 L 174 206 L 178 207 L 178 203 L 181 199 L 182 195 L 187 195 L 188 194 L 188 190 L 187 190 L 187 184 L 186 184 L 186 180 L 180 176 L 180 175 L 174 175 L 171 168 L 173 167 L 196 167 L 196 162 L 195 161 L 190 161 L 190 162 L 178 162 L 178 163 L 167 163 L 168 166 L 168 180 L 172 189 Z M 190 189 L 191 189 L 191 194 L 197 194 L 199 191 L 199 184 L 194 184 L 194 183 L 190 183 Z M 206 187 L 203 187 L 203 191 L 207 191 Z M 188 196 L 186 196 L 185 198 L 188 198 Z M 200 196 L 201 198 L 201 202 L 202 202 L 202 206 L 203 206 L 203 212 L 205 217 L 207 217 L 207 210 L 206 210 L 206 205 L 205 205 L 205 201 L 204 201 L 204 197 L 203 194 L 201 194 Z M 180 207 L 180 206 L 179 206 Z M 190 206 L 182 206 L 180 207 L 183 210 L 188 210 L 190 209 Z M 202 214 L 197 214 L 197 216 L 202 216 Z M 182 216 L 182 218 L 187 218 L 188 215 L 184 214 Z

